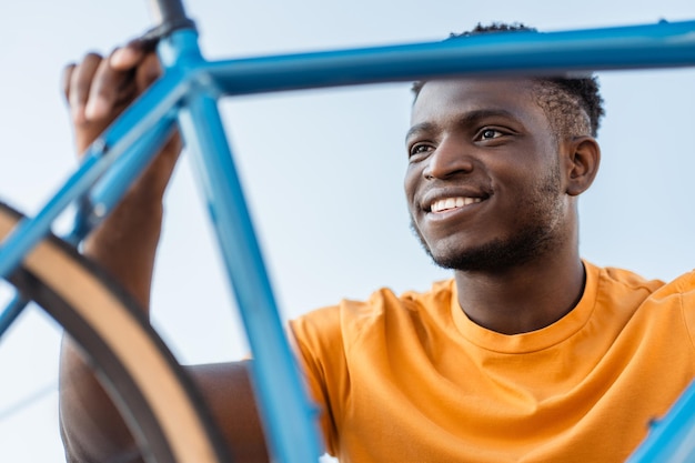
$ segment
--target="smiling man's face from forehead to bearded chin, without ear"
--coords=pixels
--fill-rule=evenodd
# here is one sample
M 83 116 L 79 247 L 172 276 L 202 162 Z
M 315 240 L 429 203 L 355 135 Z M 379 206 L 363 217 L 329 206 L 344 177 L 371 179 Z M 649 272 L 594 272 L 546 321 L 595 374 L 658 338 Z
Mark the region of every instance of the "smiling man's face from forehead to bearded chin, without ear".
M 427 82 L 406 149 L 413 230 L 437 264 L 502 271 L 567 239 L 558 143 L 531 82 Z

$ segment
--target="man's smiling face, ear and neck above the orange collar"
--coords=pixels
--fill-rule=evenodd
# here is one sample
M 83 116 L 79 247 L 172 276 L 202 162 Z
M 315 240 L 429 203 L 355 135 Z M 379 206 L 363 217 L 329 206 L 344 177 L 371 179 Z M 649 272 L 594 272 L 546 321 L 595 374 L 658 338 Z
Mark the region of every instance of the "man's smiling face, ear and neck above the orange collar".
M 472 299 L 461 301 L 466 314 L 507 334 L 560 319 L 583 289 L 576 202 L 600 150 L 578 101 L 573 117 L 585 122 L 574 133 L 551 124 L 563 115 L 543 100 L 544 85 L 553 83 L 429 82 L 406 139 L 413 229 L 437 264 L 456 271 L 460 294 Z M 555 100 L 581 98 L 556 90 Z M 545 282 L 531 289 L 531 276 Z

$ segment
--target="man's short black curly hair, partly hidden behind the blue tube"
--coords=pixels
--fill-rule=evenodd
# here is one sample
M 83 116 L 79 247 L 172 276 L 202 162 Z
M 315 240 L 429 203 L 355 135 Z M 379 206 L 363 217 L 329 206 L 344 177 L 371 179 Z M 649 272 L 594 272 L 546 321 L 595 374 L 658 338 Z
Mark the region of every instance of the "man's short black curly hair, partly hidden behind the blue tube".
M 514 31 L 537 32 L 535 28 L 523 23 L 494 22 L 488 26 L 479 23 L 471 31 L 451 33 L 447 40 L 480 33 Z M 531 80 L 536 83 L 534 91 L 538 97 L 538 104 L 546 112 L 553 129 L 558 135 L 597 135 L 605 110 L 603 108 L 603 98 L 598 91 L 598 80 L 595 76 L 536 77 Z M 415 99 L 425 83 L 425 80 L 413 83 Z

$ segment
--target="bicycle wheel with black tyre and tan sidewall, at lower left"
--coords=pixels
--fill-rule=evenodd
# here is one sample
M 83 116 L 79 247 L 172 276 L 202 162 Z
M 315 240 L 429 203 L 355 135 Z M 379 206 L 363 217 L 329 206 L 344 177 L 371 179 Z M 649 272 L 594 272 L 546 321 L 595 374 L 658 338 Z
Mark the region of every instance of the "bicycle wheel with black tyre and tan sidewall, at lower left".
M 0 240 L 20 219 L 0 203 Z M 9 281 L 81 346 L 145 461 L 231 461 L 190 378 L 143 311 L 97 265 L 51 235 Z

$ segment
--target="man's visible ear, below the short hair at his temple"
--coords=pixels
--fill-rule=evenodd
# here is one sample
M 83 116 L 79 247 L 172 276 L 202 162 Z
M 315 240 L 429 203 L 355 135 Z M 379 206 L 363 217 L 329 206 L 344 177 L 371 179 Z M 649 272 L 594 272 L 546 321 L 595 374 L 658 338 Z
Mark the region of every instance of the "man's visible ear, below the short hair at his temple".
M 575 137 L 566 143 L 567 194 L 576 197 L 586 191 L 596 178 L 601 147 L 592 137 Z

